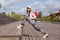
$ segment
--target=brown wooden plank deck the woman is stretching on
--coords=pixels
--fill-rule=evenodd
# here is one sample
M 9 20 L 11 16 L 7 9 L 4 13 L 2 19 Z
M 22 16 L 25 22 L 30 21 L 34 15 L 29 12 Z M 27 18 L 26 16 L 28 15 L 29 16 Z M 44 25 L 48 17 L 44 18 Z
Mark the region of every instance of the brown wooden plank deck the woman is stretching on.
M 17 28 L 21 21 L 0 26 L 0 40 L 44 40 L 43 34 L 35 30 L 28 22 L 25 27 Z M 60 25 L 45 22 L 37 23 L 50 36 L 47 40 L 60 40 Z

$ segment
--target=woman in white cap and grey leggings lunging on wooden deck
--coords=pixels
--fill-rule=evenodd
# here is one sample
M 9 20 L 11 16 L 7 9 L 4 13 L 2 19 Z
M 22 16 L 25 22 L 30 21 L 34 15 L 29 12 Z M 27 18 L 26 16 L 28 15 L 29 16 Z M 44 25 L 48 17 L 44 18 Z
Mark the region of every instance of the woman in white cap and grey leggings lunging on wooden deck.
M 26 9 L 27 9 L 28 16 L 25 16 L 25 20 L 22 23 L 22 25 L 24 26 L 24 23 L 28 21 L 37 31 L 44 34 L 43 38 L 47 38 L 48 34 L 45 33 L 42 29 L 39 29 L 39 27 L 37 26 L 35 21 L 36 16 L 34 15 L 34 13 L 31 12 L 31 6 L 27 6 Z

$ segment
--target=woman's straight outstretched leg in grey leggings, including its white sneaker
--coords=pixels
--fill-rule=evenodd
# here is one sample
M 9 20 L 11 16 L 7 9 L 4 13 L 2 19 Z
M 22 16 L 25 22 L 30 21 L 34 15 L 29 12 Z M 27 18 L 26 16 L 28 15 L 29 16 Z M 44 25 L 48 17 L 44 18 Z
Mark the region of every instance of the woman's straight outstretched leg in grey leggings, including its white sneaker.
M 48 34 L 38 27 L 35 20 L 25 19 L 25 22 L 26 21 L 28 21 L 37 31 L 43 33 L 44 34 L 43 38 L 47 38 Z

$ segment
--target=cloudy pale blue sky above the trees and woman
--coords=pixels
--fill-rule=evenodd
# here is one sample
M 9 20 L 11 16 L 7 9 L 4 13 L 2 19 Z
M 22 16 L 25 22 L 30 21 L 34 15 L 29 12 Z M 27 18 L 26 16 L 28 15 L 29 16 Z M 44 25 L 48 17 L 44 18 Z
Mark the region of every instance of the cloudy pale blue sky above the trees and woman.
M 13 11 L 26 14 L 26 7 L 32 7 L 32 12 L 42 12 L 43 16 L 50 15 L 60 9 L 60 0 L 0 0 L 0 11 Z

